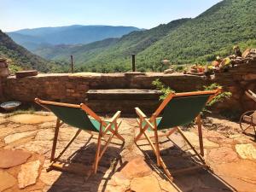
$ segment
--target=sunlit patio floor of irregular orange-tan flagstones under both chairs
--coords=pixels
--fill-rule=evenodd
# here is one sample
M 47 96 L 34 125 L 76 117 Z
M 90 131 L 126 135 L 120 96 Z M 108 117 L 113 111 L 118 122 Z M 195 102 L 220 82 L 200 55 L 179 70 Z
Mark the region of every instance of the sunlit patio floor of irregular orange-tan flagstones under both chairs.
M 0 191 L 256 191 L 253 137 L 239 133 L 239 125 L 234 122 L 209 119 L 212 123 L 207 124 L 208 129 L 203 128 L 203 137 L 205 158 L 214 173 L 204 170 L 187 172 L 174 176 L 171 183 L 155 165 L 154 154 L 146 141 L 140 141 L 139 146 L 133 142 L 137 132 L 136 119 L 123 118 L 119 132 L 125 137 L 125 144 L 113 139 L 96 175 L 84 177 L 67 172 L 46 172 L 54 137 L 53 114 L 0 114 Z M 67 125 L 61 127 L 56 154 L 75 131 Z M 183 133 L 198 149 L 196 129 Z M 89 137 L 88 133 L 82 132 L 61 158 L 68 159 L 70 164 L 91 165 L 96 137 L 84 147 Z M 190 165 L 192 159 L 184 154 L 192 152 L 178 134 L 170 138 L 160 139 L 160 149 L 172 172 L 177 167 Z

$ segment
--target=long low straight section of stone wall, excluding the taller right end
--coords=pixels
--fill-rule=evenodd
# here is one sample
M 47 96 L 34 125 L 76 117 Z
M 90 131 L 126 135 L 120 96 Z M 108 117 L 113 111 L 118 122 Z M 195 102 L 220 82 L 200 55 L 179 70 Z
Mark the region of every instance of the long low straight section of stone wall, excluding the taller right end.
M 152 81 L 161 79 L 178 91 L 200 89 L 201 77 L 162 75 L 160 73 L 61 73 L 38 74 L 38 76 L 16 79 L 10 76 L 3 84 L 3 95 L 8 100 L 32 102 L 35 97 L 60 102 L 84 102 L 85 92 L 96 89 L 154 89 Z M 194 84 L 191 84 L 191 81 Z

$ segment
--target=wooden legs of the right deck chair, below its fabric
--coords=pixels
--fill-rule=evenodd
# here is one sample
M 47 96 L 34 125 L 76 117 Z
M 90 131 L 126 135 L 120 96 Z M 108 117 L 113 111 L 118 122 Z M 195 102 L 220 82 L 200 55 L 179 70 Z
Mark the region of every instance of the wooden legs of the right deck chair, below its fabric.
M 155 154 L 156 160 L 157 160 L 157 166 L 162 166 L 162 168 L 166 172 L 166 176 L 171 181 L 173 180 L 172 174 L 187 172 L 187 171 L 195 170 L 195 169 L 198 169 L 201 167 L 209 168 L 209 166 L 207 166 L 207 164 L 206 164 L 206 161 L 202 157 L 203 156 L 203 142 L 202 142 L 202 138 L 201 138 L 201 118 L 200 118 L 200 116 L 197 117 L 196 122 L 197 122 L 197 125 L 199 128 L 199 138 L 200 138 L 199 141 L 200 141 L 201 154 L 199 154 L 197 152 L 197 150 L 194 148 L 194 146 L 189 142 L 188 138 L 184 136 L 183 132 L 180 130 L 179 127 L 174 127 L 174 128 L 172 128 L 171 131 L 167 132 L 164 135 L 159 136 L 158 132 L 157 132 L 156 119 L 153 118 L 152 121 L 150 122 L 148 119 L 146 119 L 145 114 L 139 112 L 139 119 L 137 119 L 137 122 L 139 125 L 140 132 L 138 133 L 137 137 L 135 137 L 135 142 L 137 142 L 138 140 L 141 140 L 142 139 L 141 136 L 144 135 L 144 137 L 148 140 L 148 143 L 150 144 L 151 148 L 154 151 L 154 154 Z M 150 140 L 151 137 L 148 137 L 148 134 L 146 133 L 146 130 L 148 128 L 154 131 L 154 143 Z M 172 174 L 171 174 L 171 172 L 169 172 L 169 170 L 167 169 L 165 162 L 162 160 L 162 158 L 160 156 L 160 148 L 159 148 L 158 138 L 163 137 L 163 136 L 169 137 L 175 131 L 177 131 L 183 137 L 185 142 L 189 144 L 189 147 L 195 152 L 195 156 L 198 157 L 201 164 L 198 166 L 192 166 L 192 167 L 188 167 L 188 168 L 179 169 L 177 171 L 172 172 Z

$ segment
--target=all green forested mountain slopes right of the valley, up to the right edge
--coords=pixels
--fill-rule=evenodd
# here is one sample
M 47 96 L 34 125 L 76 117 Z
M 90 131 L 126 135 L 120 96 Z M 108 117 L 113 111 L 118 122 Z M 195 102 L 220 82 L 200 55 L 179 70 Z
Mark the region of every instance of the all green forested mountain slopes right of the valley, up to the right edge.
M 51 43 L 32 51 L 58 63 L 73 55 L 77 71 L 101 73 L 131 70 L 131 54 L 137 55 L 138 71 L 160 71 L 163 59 L 177 65 L 205 64 L 217 55 L 230 55 L 234 45 L 241 50 L 256 46 L 255 7 L 255 0 L 224 0 L 193 19 L 172 20 L 120 38 L 89 44 Z

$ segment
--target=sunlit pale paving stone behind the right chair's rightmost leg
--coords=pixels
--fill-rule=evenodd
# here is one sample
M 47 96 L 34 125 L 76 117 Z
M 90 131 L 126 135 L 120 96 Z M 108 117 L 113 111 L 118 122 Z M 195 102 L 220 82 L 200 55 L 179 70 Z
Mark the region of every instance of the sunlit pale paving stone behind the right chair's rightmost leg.
M 194 132 L 183 131 L 185 137 L 189 139 L 189 142 L 192 143 L 195 147 L 199 147 L 199 138 Z M 203 138 L 204 148 L 218 148 L 218 143 L 210 142 L 208 139 Z

